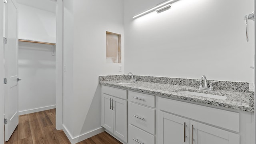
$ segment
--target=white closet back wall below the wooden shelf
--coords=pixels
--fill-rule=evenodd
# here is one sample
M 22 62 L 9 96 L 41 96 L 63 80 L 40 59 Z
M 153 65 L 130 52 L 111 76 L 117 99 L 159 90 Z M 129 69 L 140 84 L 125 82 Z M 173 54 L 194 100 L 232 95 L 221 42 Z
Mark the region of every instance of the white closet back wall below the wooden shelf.
M 52 45 L 19 42 L 19 112 L 55 107 L 55 56 Z

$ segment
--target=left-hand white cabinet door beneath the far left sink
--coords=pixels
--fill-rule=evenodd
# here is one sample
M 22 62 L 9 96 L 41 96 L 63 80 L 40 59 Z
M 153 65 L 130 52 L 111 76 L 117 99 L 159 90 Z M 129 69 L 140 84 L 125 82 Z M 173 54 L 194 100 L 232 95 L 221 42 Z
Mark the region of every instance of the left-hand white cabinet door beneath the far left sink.
M 112 100 L 112 96 L 102 94 L 102 126 L 110 132 L 113 132 Z

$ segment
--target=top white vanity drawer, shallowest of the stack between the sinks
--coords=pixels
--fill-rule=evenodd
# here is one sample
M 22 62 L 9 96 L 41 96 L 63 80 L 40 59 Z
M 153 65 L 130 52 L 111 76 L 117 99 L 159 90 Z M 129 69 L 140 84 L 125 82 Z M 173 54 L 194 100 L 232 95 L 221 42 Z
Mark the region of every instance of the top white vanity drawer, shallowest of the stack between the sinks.
M 153 95 L 128 91 L 128 99 L 132 102 L 144 104 L 146 106 L 151 106 L 153 108 L 155 107 L 155 96 Z

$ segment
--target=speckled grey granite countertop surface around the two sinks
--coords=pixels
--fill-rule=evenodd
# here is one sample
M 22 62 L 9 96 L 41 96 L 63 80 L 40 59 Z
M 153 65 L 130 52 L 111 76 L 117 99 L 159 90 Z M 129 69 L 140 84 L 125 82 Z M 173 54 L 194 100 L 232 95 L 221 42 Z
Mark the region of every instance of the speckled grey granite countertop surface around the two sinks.
M 117 82 L 127 82 L 131 84 L 118 84 Z M 230 90 L 199 90 L 196 87 L 180 86 L 174 84 L 162 84 L 156 82 L 137 81 L 136 83 L 130 82 L 130 80 L 117 78 L 100 78 L 100 84 L 106 86 L 114 86 L 117 88 L 124 88 L 127 90 L 135 90 L 138 92 L 146 92 L 148 94 L 154 94 L 157 96 L 166 96 L 170 98 L 176 98 L 181 100 L 188 100 L 192 102 L 199 102 L 203 104 L 210 104 L 214 106 L 221 106 L 225 108 L 232 108 L 235 110 L 243 110 L 248 112 L 254 112 L 254 92 L 236 92 Z M 206 98 L 202 96 L 194 96 L 190 94 L 179 93 L 182 90 L 191 92 L 201 92 L 206 94 L 216 94 L 221 96 L 227 96 L 225 100 Z

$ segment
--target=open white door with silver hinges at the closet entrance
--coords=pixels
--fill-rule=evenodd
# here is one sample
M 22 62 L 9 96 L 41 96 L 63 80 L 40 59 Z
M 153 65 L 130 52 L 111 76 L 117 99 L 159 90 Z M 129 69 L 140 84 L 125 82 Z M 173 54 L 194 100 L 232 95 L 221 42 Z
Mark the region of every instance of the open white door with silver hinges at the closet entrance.
M 18 125 L 18 10 L 15 0 L 4 4 L 4 76 L 7 78 L 4 94 L 4 140 L 8 141 Z

